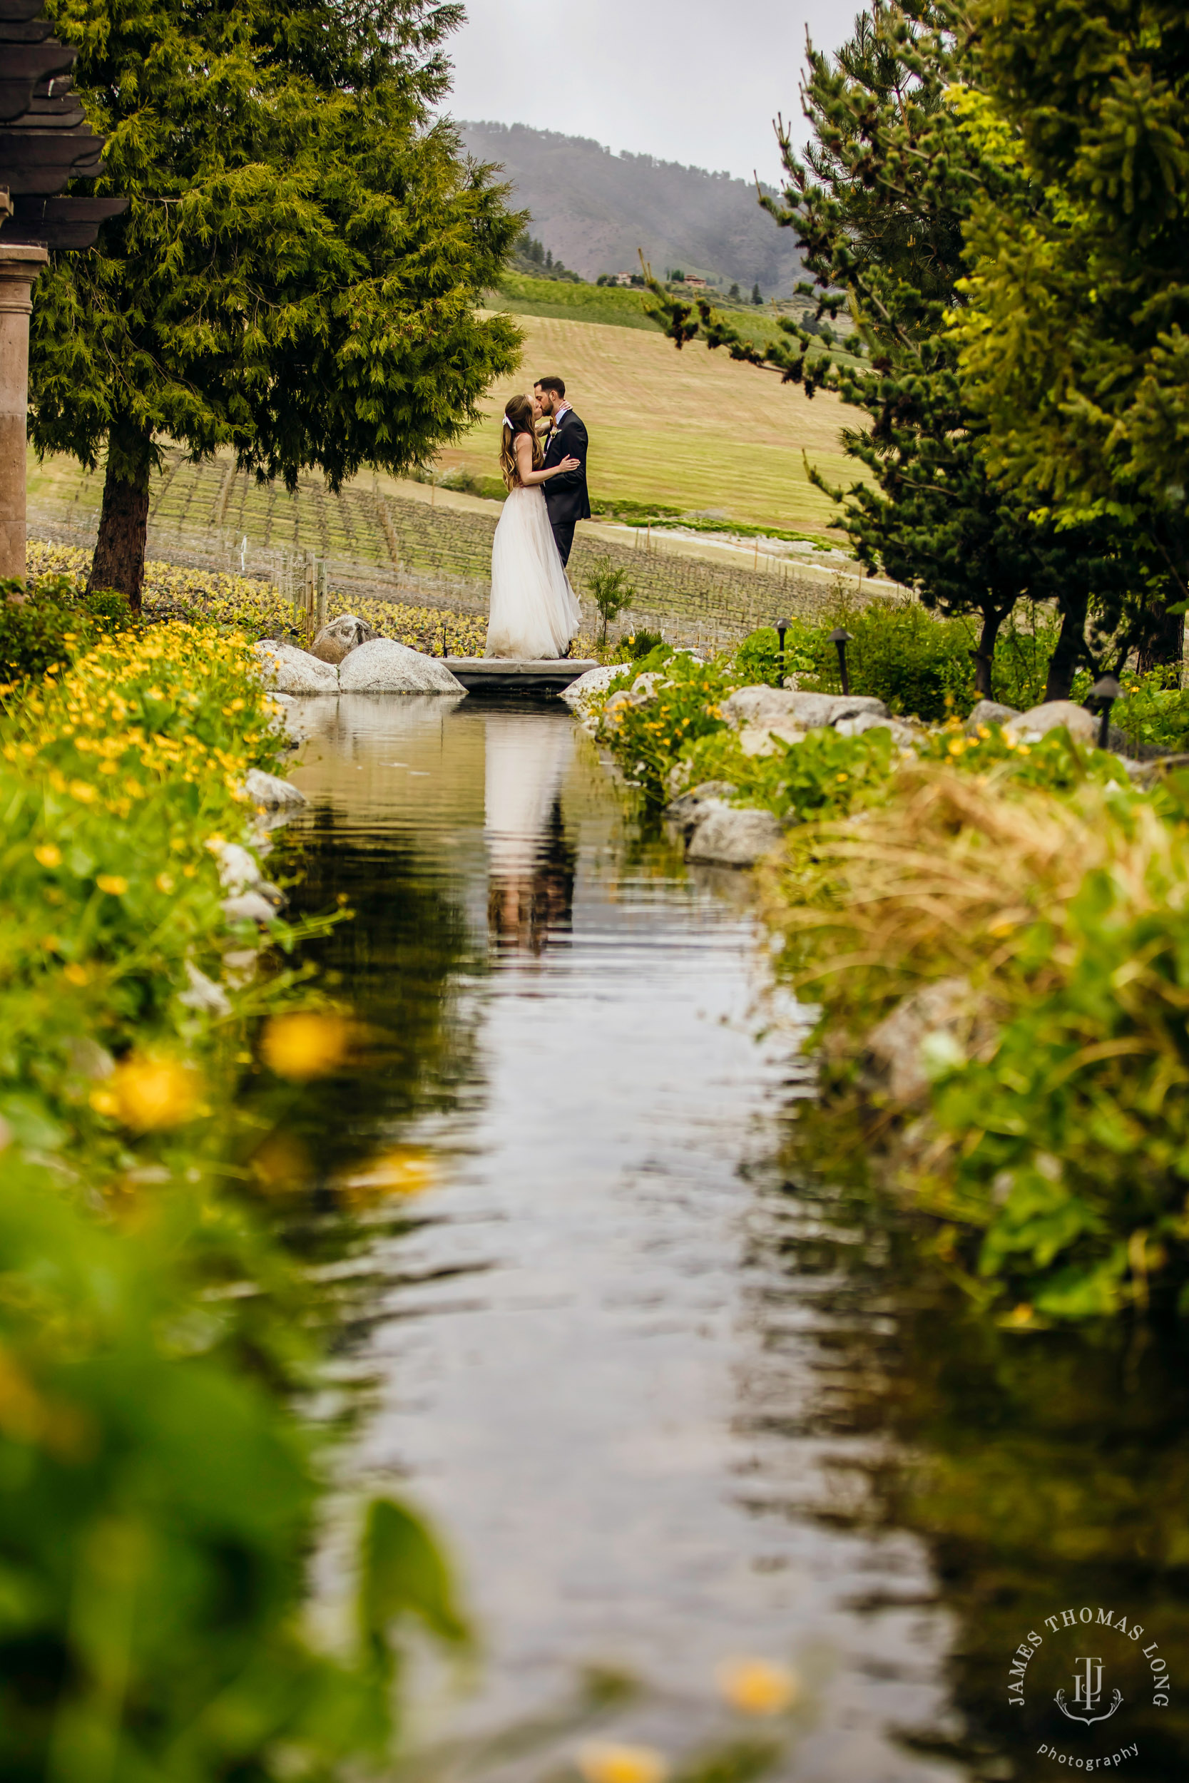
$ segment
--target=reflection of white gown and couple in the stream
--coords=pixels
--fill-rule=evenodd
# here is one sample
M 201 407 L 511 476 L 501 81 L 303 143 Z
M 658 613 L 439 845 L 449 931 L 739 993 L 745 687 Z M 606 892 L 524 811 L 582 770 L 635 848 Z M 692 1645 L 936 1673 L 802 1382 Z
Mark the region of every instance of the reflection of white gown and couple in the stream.
M 492 943 L 542 954 L 570 925 L 574 850 L 562 820 L 562 781 L 574 751 L 569 724 L 542 735 L 540 719 L 512 713 L 487 726 L 487 915 Z

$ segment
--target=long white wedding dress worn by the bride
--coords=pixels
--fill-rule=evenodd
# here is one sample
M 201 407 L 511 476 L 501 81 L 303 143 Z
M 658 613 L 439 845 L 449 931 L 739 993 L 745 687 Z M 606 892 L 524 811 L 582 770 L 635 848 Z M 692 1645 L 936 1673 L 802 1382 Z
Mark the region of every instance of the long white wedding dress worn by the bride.
M 483 654 L 522 661 L 563 656 L 581 617 L 542 487 L 510 490 L 492 546 L 492 617 Z

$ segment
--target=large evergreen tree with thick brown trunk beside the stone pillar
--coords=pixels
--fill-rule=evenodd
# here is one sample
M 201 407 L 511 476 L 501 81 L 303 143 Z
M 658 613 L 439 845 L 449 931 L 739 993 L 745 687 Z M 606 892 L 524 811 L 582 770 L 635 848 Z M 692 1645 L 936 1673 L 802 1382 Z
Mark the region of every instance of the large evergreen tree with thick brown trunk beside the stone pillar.
M 162 437 L 332 489 L 405 471 L 517 360 L 481 321 L 522 218 L 431 107 L 462 16 L 431 0 L 50 0 L 127 193 L 37 283 L 30 433 L 107 474 L 93 585 L 139 603 Z

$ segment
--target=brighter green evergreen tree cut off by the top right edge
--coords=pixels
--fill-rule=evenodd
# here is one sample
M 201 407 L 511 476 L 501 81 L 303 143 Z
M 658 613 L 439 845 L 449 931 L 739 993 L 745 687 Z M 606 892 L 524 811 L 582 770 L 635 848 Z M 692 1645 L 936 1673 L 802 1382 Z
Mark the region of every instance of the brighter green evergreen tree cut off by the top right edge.
M 1029 185 L 973 210 L 963 369 L 988 462 L 1162 563 L 1141 663 L 1180 661 L 1189 599 L 1189 14 L 1182 0 L 973 0 Z M 1043 191 L 1046 203 L 1034 194 Z

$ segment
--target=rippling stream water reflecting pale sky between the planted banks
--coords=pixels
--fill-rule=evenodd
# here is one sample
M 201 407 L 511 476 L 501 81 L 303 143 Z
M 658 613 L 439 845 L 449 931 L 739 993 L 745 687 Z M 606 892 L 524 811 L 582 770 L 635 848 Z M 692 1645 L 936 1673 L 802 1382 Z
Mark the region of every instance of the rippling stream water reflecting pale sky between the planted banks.
M 1002 1674 L 1046 1594 L 1152 1599 L 1184 1359 L 1143 1385 L 1109 1346 L 1021 1362 L 895 1221 L 790 1180 L 804 1023 L 761 998 L 743 890 L 642 833 L 563 708 L 355 695 L 310 724 L 285 850 L 310 908 L 357 911 L 319 954 L 373 1043 L 294 1130 L 326 1173 L 392 1141 L 437 1164 L 355 1253 L 340 1369 L 351 1478 L 430 1512 L 481 1630 L 455 1728 L 604 1665 L 647 1687 L 606 1731 L 690 1751 L 724 1731 L 715 1667 L 761 1655 L 806 1680 L 783 1776 L 1050 1774 Z M 1159 1737 L 1132 1776 L 1182 1774 Z

